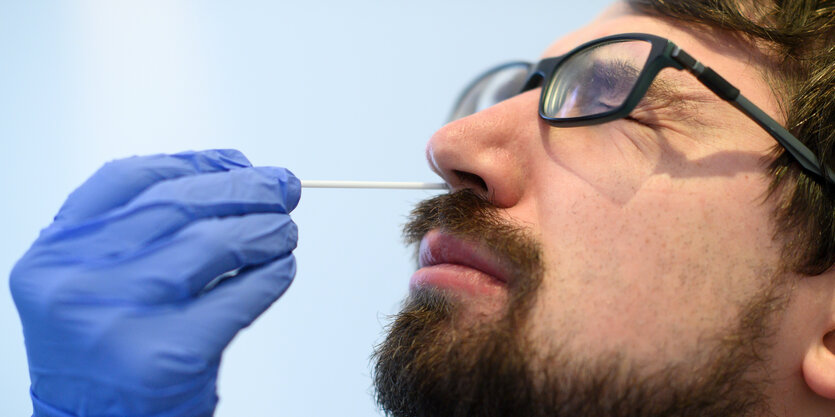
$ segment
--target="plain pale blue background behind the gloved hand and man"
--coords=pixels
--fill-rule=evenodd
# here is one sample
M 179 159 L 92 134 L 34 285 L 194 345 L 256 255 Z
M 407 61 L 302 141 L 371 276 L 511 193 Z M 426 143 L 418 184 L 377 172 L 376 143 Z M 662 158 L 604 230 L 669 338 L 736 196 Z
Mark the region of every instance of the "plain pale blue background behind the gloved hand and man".
M 460 88 L 535 60 L 606 0 L 0 0 L 0 271 L 104 162 L 237 148 L 302 179 L 437 181 L 426 140 Z M 298 274 L 224 357 L 218 416 L 372 416 L 368 356 L 413 271 L 425 191 L 305 190 Z M 31 413 L 0 290 L 0 415 Z

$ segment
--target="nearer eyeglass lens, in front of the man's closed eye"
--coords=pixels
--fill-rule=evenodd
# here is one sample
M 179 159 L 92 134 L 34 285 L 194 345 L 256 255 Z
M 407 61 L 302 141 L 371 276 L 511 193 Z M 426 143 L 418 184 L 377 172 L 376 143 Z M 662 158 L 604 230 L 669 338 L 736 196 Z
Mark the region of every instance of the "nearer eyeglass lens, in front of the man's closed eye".
M 602 43 L 569 56 L 545 87 L 544 116 L 572 119 L 620 108 L 635 87 L 652 44 L 641 40 Z

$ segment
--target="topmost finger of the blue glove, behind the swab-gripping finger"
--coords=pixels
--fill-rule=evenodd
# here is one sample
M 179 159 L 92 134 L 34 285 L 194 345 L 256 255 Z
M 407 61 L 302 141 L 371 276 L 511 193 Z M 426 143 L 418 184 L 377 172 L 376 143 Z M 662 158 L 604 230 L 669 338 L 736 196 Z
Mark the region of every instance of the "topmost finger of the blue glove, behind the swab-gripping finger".
M 157 182 L 189 175 L 229 171 L 252 164 L 234 149 L 134 156 L 106 163 L 73 191 L 56 222 L 84 220 L 120 207 Z

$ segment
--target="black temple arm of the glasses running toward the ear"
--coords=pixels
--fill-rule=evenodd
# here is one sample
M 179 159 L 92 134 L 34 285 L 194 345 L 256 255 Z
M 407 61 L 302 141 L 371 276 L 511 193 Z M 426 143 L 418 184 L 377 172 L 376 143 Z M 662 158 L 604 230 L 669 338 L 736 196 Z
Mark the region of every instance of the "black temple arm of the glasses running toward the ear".
M 780 123 L 772 119 L 771 116 L 762 111 L 762 109 L 740 94 L 739 89 L 722 78 L 716 71 L 702 65 L 702 63 L 695 60 L 687 52 L 682 51 L 678 46 L 674 47 L 671 57 L 681 64 L 684 69 L 695 75 L 705 87 L 716 93 L 723 100 L 730 102 L 734 107 L 765 129 L 777 142 L 783 145 L 803 168 L 835 184 L 835 173 L 829 167 L 821 165 L 818 158 L 806 145 L 794 137 Z M 823 174 L 824 171 L 826 175 Z

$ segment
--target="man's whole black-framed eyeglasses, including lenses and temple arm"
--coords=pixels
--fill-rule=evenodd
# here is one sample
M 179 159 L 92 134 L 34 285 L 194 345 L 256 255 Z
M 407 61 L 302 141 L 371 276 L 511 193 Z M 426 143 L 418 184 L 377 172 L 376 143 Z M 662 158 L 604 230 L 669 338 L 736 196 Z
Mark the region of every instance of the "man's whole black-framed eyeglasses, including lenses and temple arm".
M 687 70 L 765 129 L 807 171 L 835 184 L 815 154 L 715 71 L 668 39 L 643 33 L 607 36 L 536 65 L 510 62 L 471 83 L 450 121 L 542 86 L 539 117 L 556 127 L 586 126 L 629 116 L 664 68 Z

